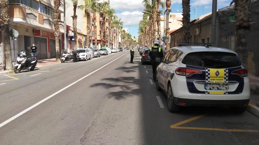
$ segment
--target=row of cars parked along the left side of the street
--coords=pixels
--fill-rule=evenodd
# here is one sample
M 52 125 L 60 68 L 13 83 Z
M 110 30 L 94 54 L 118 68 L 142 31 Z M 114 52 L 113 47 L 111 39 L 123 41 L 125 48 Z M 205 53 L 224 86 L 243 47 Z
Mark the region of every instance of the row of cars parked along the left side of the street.
M 102 47 L 101 49 L 94 49 L 90 46 L 85 48 L 77 49 L 79 53 L 79 60 L 89 60 L 94 57 L 101 57 L 101 55 L 108 55 L 116 52 L 122 51 L 122 48 L 110 48 L 110 47 Z

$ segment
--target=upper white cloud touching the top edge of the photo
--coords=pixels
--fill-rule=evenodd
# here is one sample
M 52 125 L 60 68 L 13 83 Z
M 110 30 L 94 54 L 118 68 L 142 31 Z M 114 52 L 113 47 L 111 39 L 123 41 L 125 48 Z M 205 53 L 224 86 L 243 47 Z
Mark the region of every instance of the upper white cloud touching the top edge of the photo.
M 111 8 L 115 10 L 143 10 L 142 0 L 110 0 Z

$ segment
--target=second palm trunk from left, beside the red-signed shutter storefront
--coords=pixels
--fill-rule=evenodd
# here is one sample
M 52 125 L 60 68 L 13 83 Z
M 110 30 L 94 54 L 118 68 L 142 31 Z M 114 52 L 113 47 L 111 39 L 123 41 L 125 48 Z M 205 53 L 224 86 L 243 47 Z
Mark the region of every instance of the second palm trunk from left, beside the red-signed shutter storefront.
M 55 43 L 56 43 L 56 61 L 60 61 L 60 52 L 59 52 L 59 6 L 60 0 L 54 0 L 54 19 L 53 25 L 55 30 Z

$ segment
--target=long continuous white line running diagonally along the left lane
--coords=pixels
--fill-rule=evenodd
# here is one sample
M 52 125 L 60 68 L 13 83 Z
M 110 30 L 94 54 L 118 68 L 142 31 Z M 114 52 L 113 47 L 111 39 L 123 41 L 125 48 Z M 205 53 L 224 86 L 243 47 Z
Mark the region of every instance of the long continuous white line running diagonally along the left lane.
M 129 53 L 129 52 L 127 52 L 127 53 Z M 125 54 L 127 54 L 127 53 L 125 53 Z M 123 54 L 123 55 L 125 55 L 125 54 Z M 123 55 L 122 55 L 122 56 L 123 56 Z M 122 57 L 122 56 L 120 56 L 120 57 Z M 56 93 L 54 93 L 54 94 L 48 96 L 48 97 L 45 98 L 45 99 L 39 101 L 38 103 L 32 105 L 31 107 L 29 107 L 29 108 L 23 110 L 22 112 L 20 112 L 20 113 L 14 115 L 13 117 L 11 117 L 11 118 L 9 118 L 8 120 L 6 120 L 6 121 L 4 121 L 3 123 L 1 123 L 1 124 L 0 124 L 0 127 L 4 126 L 5 124 L 7 124 L 7 123 L 9 123 L 9 122 L 11 122 L 11 121 L 13 121 L 13 120 L 16 119 L 17 117 L 23 115 L 24 113 L 26 113 L 26 112 L 28 112 L 29 110 L 31 110 L 32 108 L 34 108 L 34 107 L 40 105 L 41 103 L 47 101 L 49 98 L 52 98 L 53 96 L 57 95 L 58 93 L 60 93 L 60 92 L 62 92 L 62 91 L 64 91 L 64 90 L 66 90 L 67 88 L 69 88 L 70 86 L 74 85 L 75 83 L 81 81 L 82 79 L 86 78 L 87 76 L 90 76 L 91 74 L 95 73 L 96 71 L 99 71 L 100 69 L 104 68 L 105 66 L 107 66 L 108 64 L 114 62 L 115 60 L 119 59 L 120 57 L 114 59 L 113 61 L 111 61 L 111 62 L 109 62 L 109 63 L 107 63 L 107 64 L 105 64 L 104 66 L 102 66 L 102 67 L 100 67 L 99 69 L 97 69 L 97 70 L 91 72 L 90 74 L 87 74 L 86 76 L 84 76 L 84 77 L 82 77 L 81 79 L 75 81 L 74 83 L 71 83 L 70 85 L 66 86 L 65 88 L 62 88 L 61 90 L 59 90 L 59 91 L 57 91 Z

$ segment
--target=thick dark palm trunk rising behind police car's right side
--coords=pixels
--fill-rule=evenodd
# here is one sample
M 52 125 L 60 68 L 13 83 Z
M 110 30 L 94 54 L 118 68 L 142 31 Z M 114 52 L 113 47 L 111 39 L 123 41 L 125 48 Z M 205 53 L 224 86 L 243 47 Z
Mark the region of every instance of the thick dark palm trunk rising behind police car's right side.
M 237 52 L 244 67 L 248 65 L 248 36 L 251 24 L 251 1 L 233 0 L 235 3 L 235 21 L 236 23 L 236 47 Z M 230 4 L 230 5 L 231 5 Z

